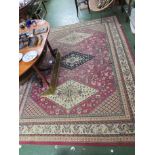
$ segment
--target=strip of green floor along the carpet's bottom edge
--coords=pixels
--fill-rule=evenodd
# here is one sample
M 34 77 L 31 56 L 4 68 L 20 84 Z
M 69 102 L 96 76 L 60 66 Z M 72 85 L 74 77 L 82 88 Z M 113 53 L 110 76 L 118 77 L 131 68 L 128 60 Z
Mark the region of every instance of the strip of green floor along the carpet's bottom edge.
M 133 147 L 23 145 L 20 155 L 134 155 Z

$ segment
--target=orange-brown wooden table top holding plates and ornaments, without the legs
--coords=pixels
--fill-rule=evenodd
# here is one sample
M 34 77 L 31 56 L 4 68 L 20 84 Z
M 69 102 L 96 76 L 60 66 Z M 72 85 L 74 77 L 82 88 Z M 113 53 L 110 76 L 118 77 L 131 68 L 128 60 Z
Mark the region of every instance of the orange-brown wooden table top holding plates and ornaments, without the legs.
M 36 61 L 39 59 L 39 57 L 41 56 L 45 43 L 46 43 L 46 39 L 48 37 L 48 33 L 50 31 L 50 26 L 49 23 L 45 20 L 36 20 L 37 25 L 36 26 L 31 26 L 29 29 L 25 28 L 24 30 L 20 29 L 19 33 L 24 33 L 24 32 L 32 32 L 33 29 L 39 29 L 42 27 L 48 27 L 48 31 L 46 33 L 42 33 L 41 35 L 43 36 L 43 40 L 41 45 L 37 45 L 35 47 L 25 47 L 23 49 L 20 49 L 19 52 L 20 53 L 27 53 L 29 51 L 37 51 L 38 52 L 38 56 L 30 61 L 30 62 L 23 62 L 22 60 L 19 62 L 19 76 L 23 75 L 27 70 L 29 70 L 35 63 Z M 39 34 L 40 35 L 40 34 Z

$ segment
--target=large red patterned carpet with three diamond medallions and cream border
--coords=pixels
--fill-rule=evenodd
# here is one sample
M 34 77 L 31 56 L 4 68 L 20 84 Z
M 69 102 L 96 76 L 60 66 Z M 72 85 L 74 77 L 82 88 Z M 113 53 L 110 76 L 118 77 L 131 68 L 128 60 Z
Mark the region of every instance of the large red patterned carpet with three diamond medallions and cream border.
M 20 143 L 133 145 L 134 61 L 117 18 L 52 29 L 49 40 L 62 56 L 58 87 L 41 97 L 35 76 L 20 86 Z

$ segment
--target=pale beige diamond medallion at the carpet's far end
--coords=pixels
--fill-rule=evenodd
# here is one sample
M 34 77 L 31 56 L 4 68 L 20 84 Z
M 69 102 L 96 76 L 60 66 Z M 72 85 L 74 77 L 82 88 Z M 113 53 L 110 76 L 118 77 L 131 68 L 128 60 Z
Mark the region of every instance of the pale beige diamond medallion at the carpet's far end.
M 65 36 L 64 38 L 59 39 L 58 42 L 75 45 L 90 36 L 92 36 L 92 34 L 73 32 L 73 33 L 70 33 L 69 35 Z

